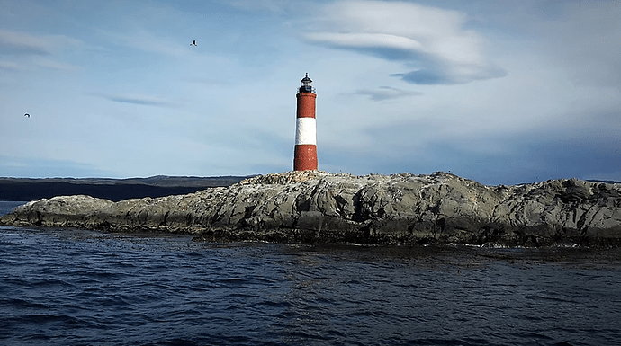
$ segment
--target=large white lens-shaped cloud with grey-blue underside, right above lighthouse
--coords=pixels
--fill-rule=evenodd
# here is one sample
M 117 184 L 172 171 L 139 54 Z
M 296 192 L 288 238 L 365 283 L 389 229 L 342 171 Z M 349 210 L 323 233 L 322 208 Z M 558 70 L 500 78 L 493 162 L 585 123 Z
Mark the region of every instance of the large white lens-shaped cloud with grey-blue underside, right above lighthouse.
M 415 67 L 392 74 L 412 84 L 466 84 L 507 75 L 483 56 L 484 40 L 464 29 L 466 20 L 464 13 L 420 4 L 352 0 L 326 5 L 302 39 Z

